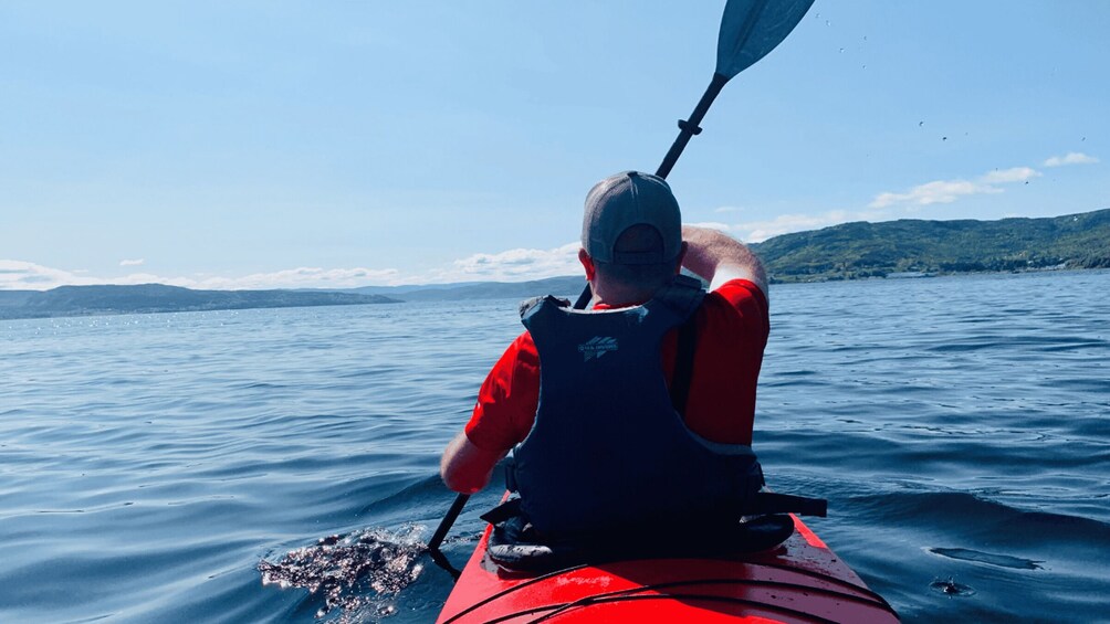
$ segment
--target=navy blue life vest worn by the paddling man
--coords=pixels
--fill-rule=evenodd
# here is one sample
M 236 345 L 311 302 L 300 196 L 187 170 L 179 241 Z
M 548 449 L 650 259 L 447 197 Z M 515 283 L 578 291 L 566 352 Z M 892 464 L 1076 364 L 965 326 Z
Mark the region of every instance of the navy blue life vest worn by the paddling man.
M 679 276 L 630 308 L 575 310 L 553 297 L 522 307 L 539 352 L 539 407 L 509 488 L 544 539 L 735 522 L 750 507 L 764 483 L 751 448 L 687 429 L 663 374 L 663 337 L 704 296 Z

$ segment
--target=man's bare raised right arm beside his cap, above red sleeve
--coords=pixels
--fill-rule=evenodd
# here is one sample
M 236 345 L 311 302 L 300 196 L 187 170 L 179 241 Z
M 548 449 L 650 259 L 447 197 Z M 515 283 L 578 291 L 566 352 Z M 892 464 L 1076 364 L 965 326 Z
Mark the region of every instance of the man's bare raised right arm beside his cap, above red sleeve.
M 709 282 L 714 290 L 729 279 L 747 279 L 767 296 L 767 272 L 763 263 L 739 241 L 723 232 L 693 225 L 683 226 L 686 257 L 683 266 Z

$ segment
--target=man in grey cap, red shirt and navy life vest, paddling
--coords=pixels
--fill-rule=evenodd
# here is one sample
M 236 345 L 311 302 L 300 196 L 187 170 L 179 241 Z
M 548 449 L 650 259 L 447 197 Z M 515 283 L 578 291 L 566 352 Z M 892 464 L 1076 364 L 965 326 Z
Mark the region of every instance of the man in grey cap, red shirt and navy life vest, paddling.
M 761 263 L 723 233 L 682 226 L 667 183 L 636 172 L 589 192 L 578 258 L 592 310 L 553 298 L 524 310 L 528 331 L 443 453 L 444 482 L 476 492 L 516 447 L 509 488 L 549 534 L 716 513 L 692 509 L 703 503 L 735 512 L 722 499 L 763 482 L 749 448 L 769 333 Z

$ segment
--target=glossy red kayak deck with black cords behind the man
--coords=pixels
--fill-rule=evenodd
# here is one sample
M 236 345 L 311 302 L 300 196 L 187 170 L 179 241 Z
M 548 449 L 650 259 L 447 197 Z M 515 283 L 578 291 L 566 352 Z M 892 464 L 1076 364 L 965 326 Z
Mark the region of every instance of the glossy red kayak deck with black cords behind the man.
M 542 575 L 500 571 L 491 529 L 437 622 L 897 622 L 894 610 L 797 516 L 761 553 L 577 565 Z

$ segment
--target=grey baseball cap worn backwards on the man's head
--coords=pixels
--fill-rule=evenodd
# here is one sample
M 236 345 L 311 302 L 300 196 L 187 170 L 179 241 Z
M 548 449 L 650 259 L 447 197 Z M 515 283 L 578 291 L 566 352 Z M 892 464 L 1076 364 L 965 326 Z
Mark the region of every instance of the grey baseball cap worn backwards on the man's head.
M 617 252 L 625 229 L 649 225 L 663 238 L 663 252 Z M 586 195 L 582 247 L 595 260 L 609 264 L 658 264 L 678 257 L 683 217 L 670 186 L 659 176 L 635 171 L 610 175 Z

